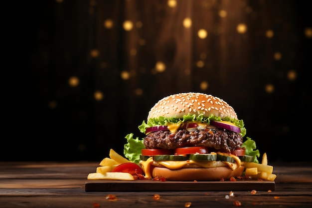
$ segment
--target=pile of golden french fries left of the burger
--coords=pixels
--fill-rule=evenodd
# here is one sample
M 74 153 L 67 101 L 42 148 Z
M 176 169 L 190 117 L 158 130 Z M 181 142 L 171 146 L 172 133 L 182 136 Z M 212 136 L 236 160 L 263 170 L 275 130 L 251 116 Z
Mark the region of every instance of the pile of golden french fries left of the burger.
M 112 172 L 115 167 L 123 163 L 131 163 L 131 161 L 111 149 L 109 158 L 104 158 L 99 164 L 100 166 L 96 168 L 96 173 L 90 173 L 87 179 L 134 181 L 135 179 L 130 173 Z

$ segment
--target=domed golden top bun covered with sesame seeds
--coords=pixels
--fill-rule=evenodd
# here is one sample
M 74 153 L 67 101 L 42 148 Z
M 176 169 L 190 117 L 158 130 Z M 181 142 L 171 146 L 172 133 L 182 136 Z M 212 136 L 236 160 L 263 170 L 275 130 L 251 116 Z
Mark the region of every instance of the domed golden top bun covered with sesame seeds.
M 159 100 L 149 112 L 148 119 L 158 118 L 183 118 L 184 115 L 211 115 L 221 119 L 230 117 L 237 120 L 234 109 L 224 100 L 203 93 L 179 93 L 170 95 Z

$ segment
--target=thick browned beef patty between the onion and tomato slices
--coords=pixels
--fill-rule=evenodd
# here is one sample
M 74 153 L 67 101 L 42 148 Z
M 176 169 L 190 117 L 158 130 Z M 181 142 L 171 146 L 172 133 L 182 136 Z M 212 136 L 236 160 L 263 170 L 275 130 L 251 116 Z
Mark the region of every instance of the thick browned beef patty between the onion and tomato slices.
M 240 133 L 216 128 L 195 131 L 179 129 L 175 133 L 156 131 L 144 138 L 144 145 L 147 149 L 171 150 L 180 147 L 203 146 L 230 152 L 240 148 L 242 143 L 243 138 Z

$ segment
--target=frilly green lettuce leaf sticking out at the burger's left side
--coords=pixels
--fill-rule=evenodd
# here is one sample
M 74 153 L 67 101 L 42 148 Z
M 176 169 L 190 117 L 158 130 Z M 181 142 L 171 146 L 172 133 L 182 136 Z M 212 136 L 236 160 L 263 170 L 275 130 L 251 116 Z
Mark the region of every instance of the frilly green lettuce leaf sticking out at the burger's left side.
M 143 139 L 136 139 L 133 138 L 133 134 L 128 134 L 126 137 L 127 144 L 124 145 L 124 155 L 128 160 L 133 163 L 139 164 L 140 162 L 140 155 L 142 153 L 142 149 L 145 149 L 143 144 Z

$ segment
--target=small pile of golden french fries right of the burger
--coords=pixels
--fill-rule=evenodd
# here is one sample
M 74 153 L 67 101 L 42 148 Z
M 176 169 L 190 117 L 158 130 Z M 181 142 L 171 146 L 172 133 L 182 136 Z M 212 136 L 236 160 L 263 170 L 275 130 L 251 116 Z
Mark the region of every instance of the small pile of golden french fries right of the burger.
M 274 181 L 276 178 L 273 172 L 273 166 L 268 165 L 267 154 L 264 153 L 262 162 L 260 163 L 246 163 L 245 164 L 245 176 L 252 179 L 264 179 L 268 181 Z

